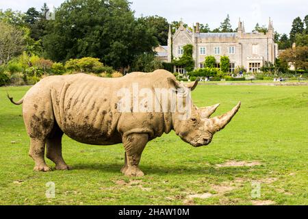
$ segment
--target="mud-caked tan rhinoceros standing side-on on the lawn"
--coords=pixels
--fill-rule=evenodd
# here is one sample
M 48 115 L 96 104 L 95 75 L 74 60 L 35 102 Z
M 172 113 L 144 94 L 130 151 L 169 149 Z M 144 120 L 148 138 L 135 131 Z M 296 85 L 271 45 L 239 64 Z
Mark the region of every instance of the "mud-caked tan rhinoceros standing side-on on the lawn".
M 136 112 L 133 107 L 120 111 L 118 103 L 122 97 L 118 96 L 118 91 L 127 88 L 129 94 L 133 83 L 153 91 L 171 89 L 176 96 L 185 96 L 183 94 L 188 90 L 196 88 L 198 81 L 181 83 L 166 70 L 130 73 L 120 78 L 78 73 L 45 77 L 18 102 L 8 96 L 16 105 L 23 103 L 23 120 L 30 138 L 29 156 L 34 159 L 34 170 L 52 170 L 44 160 L 45 145 L 46 157 L 55 163 L 56 170 L 70 169 L 62 157 L 62 136 L 65 133 L 86 144 L 123 143 L 125 164 L 121 172 L 141 177 L 144 173 L 138 165 L 147 142 L 174 130 L 192 146 L 207 145 L 214 133 L 223 129 L 240 108 L 239 102 L 230 112 L 210 118 L 219 104 L 203 108 L 191 104 L 190 114 L 184 119 L 181 114 L 185 112 L 171 111 L 170 108 L 162 112 Z M 157 96 L 154 95 L 153 99 L 157 100 Z M 170 99 L 169 96 L 169 106 Z

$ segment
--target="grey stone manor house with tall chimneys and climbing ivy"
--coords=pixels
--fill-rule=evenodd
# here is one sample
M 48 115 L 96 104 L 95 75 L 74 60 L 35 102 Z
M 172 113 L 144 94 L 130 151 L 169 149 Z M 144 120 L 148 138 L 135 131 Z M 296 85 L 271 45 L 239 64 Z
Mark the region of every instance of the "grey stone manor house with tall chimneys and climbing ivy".
M 203 68 L 207 55 L 216 58 L 216 67 L 220 68 L 220 56 L 227 55 L 230 60 L 230 72 L 237 66 L 244 66 L 248 72 L 259 72 L 265 62 L 274 63 L 278 56 L 278 44 L 274 42 L 274 28 L 269 21 L 266 34 L 253 31 L 246 33 L 244 23 L 239 21 L 238 31 L 234 33 L 200 33 L 199 23 L 193 30 L 180 27 L 171 34 L 169 27 L 168 46 L 155 49 L 159 60 L 171 62 L 172 57 L 177 59 L 183 55 L 183 46 L 192 44 L 194 47 L 194 68 Z M 185 73 L 182 66 L 175 66 L 175 72 Z

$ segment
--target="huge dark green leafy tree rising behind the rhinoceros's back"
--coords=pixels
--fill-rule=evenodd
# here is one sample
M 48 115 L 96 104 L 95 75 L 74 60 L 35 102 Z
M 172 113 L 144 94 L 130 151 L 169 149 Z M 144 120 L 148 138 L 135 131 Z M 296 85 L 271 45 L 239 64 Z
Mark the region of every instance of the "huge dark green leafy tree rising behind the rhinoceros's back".
M 114 69 L 129 66 L 135 57 L 158 44 L 144 23 L 136 21 L 127 0 L 65 1 L 43 38 L 53 61 L 98 57 Z M 103 16 L 102 16 L 103 14 Z

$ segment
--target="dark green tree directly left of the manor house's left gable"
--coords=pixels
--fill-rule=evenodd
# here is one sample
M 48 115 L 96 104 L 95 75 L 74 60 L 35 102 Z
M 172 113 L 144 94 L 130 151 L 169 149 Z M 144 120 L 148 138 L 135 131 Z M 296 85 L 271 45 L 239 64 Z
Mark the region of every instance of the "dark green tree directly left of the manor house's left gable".
M 166 18 L 162 16 L 146 16 L 138 18 L 138 22 L 143 23 L 146 28 L 151 30 L 153 35 L 157 38 L 159 44 L 168 44 L 168 30 L 169 23 Z

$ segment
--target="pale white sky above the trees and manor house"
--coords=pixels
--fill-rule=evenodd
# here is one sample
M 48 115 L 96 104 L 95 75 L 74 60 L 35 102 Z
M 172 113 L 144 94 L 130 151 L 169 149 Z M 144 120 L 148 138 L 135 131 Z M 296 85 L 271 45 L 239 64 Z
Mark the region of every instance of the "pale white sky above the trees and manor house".
M 28 8 L 40 9 L 46 2 L 59 6 L 64 0 L 0 0 L 0 9 L 12 8 L 25 12 Z M 238 26 L 238 18 L 244 21 L 246 31 L 251 31 L 256 23 L 268 25 L 271 17 L 274 29 L 289 34 L 292 21 L 297 16 L 308 14 L 307 0 L 131 0 L 131 8 L 136 16 L 159 15 L 171 21 L 208 23 L 211 29 L 219 27 L 229 14 L 233 29 Z

